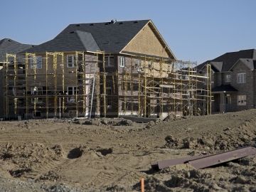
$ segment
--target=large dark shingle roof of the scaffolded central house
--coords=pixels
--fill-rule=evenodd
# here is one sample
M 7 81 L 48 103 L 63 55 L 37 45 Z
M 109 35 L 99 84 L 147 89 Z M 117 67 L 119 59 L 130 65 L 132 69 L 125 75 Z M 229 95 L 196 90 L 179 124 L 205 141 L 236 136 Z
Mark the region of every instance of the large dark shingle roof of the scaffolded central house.
M 26 51 L 44 53 L 46 51 L 103 50 L 106 53 L 120 53 L 147 23 L 154 26 L 151 20 L 70 24 L 52 40 Z M 166 50 L 174 56 L 160 33 L 158 36 Z

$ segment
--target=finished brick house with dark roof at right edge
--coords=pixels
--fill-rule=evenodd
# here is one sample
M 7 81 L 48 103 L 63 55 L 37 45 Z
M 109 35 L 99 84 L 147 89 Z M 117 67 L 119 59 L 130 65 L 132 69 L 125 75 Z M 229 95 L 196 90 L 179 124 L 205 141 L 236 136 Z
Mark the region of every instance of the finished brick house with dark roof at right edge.
M 256 107 L 256 50 L 240 50 L 208 60 L 198 69 L 212 69 L 212 112 L 234 112 Z

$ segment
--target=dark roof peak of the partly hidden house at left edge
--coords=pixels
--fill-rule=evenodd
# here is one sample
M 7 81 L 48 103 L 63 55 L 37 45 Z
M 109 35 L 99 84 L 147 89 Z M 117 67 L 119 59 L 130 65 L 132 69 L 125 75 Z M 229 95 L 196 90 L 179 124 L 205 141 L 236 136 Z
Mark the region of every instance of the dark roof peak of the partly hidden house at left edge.
M 4 38 L 0 41 L 0 61 L 5 60 L 6 53 L 15 54 L 31 48 L 33 45 L 18 43 L 11 38 Z

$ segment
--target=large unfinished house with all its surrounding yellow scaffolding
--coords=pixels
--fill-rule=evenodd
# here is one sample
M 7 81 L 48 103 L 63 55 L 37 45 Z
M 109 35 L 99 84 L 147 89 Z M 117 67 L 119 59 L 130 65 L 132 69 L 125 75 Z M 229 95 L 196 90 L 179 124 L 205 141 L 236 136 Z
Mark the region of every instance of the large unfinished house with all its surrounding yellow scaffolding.
M 176 60 L 151 20 L 71 24 L 3 63 L 6 119 L 210 114 L 210 67 Z

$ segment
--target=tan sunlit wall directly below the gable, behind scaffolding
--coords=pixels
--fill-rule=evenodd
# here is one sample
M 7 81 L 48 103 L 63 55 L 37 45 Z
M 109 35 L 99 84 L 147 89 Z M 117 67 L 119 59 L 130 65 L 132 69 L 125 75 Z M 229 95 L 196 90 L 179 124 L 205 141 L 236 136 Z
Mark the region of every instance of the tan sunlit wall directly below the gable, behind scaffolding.
M 121 64 L 120 58 L 121 57 L 125 58 L 125 67 L 120 66 L 120 64 Z M 161 62 L 161 64 L 160 64 L 160 62 Z M 145 60 L 145 58 L 143 58 L 143 56 L 141 58 L 139 58 L 139 57 L 131 58 L 130 56 L 127 56 L 127 55 L 118 55 L 117 56 L 117 68 L 118 68 L 118 74 L 119 74 L 119 76 L 118 76 L 118 95 L 119 95 L 118 114 L 119 115 L 141 114 L 141 115 L 146 115 L 146 117 L 156 117 L 156 116 L 160 117 L 163 115 L 167 116 L 169 114 L 170 109 L 167 107 L 167 104 L 164 104 L 163 112 L 160 112 L 159 106 L 146 107 L 146 114 L 144 114 L 144 107 L 142 107 L 143 105 L 141 105 L 141 107 L 140 107 L 141 111 L 139 111 L 139 103 L 137 101 L 134 101 L 134 102 L 129 101 L 129 98 L 130 98 L 130 100 L 138 100 L 139 92 L 141 95 L 143 95 L 144 78 L 140 79 L 140 82 L 142 85 L 141 90 L 139 90 L 138 83 L 134 83 L 134 82 L 139 82 L 138 75 L 141 74 L 142 77 L 144 77 L 144 75 L 147 75 L 147 76 L 154 77 L 155 80 L 159 80 L 159 78 L 161 77 L 161 74 L 159 72 L 160 65 L 162 65 L 162 70 L 163 70 L 162 76 L 168 78 L 169 74 L 167 73 L 167 70 L 171 70 L 169 63 L 165 63 L 161 60 L 157 60 L 157 59 L 153 59 L 153 58 L 151 60 L 149 58 L 147 58 Z M 168 68 L 168 65 L 169 65 L 169 68 Z M 126 79 L 125 74 L 127 74 L 127 76 L 129 78 L 130 78 L 129 74 L 132 74 L 131 75 L 132 80 Z M 127 85 L 124 85 L 125 82 L 127 83 Z M 147 81 L 147 83 L 149 83 L 149 81 Z M 150 87 L 151 85 L 147 84 L 146 86 Z M 159 85 L 157 85 L 157 86 L 159 86 Z M 165 92 L 168 92 L 168 91 L 165 90 Z M 165 95 L 165 96 L 171 97 L 171 94 L 172 93 L 170 93 L 170 95 Z M 122 96 L 126 96 L 127 99 L 126 100 L 122 99 Z M 144 97 L 141 97 L 140 102 L 141 103 L 145 102 Z M 146 103 L 148 103 L 148 104 L 150 103 L 151 105 L 156 105 L 156 102 L 157 102 L 156 100 L 152 100 L 152 99 L 146 100 Z

